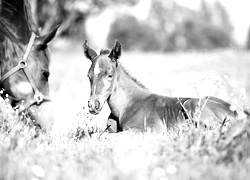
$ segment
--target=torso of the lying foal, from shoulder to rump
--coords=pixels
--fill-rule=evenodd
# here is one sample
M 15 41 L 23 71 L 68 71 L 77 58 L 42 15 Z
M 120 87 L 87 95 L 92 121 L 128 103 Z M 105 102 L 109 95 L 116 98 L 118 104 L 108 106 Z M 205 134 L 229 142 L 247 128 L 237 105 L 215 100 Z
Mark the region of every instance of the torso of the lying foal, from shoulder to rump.
M 206 127 L 235 119 L 230 104 L 215 98 L 176 98 L 150 94 L 138 98 L 123 113 L 121 130 L 166 131 L 187 119 L 200 121 Z

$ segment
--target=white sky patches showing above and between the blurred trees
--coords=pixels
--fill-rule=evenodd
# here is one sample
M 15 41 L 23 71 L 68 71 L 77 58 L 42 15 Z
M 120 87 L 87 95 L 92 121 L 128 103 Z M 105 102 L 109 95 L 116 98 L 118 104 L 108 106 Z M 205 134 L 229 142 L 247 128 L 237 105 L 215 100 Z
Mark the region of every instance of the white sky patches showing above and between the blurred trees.
M 190 9 L 198 9 L 201 0 L 169 0 L 176 1 L 178 4 Z M 248 28 L 250 27 L 250 1 L 249 0 L 206 0 L 208 3 L 219 1 L 226 8 L 232 26 L 234 28 L 234 39 L 236 43 L 244 46 Z M 144 20 L 148 16 L 151 0 L 140 0 L 133 7 L 122 6 L 119 8 L 110 8 L 104 11 L 100 16 L 90 17 L 87 21 L 87 33 L 96 47 L 106 46 L 106 37 L 109 32 L 109 26 L 113 21 L 114 14 L 128 13 L 136 16 L 139 20 Z M 101 31 L 100 31 L 101 27 Z M 97 45 L 98 44 L 98 45 Z

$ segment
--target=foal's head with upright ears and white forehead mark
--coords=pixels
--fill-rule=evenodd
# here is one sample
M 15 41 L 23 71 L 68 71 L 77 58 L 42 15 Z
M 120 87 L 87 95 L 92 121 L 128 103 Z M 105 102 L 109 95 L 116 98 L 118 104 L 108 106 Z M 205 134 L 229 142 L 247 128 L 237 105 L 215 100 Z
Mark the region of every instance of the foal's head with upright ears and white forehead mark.
M 100 55 L 88 46 L 84 45 L 84 54 L 91 60 L 92 64 L 88 72 L 91 85 L 91 95 L 89 99 L 89 111 L 98 114 L 109 96 L 115 90 L 117 81 L 117 60 L 121 56 L 121 44 L 116 40 L 111 51 L 102 50 Z

